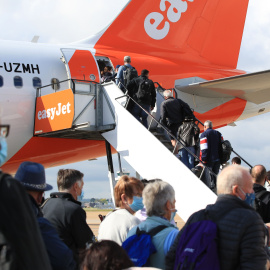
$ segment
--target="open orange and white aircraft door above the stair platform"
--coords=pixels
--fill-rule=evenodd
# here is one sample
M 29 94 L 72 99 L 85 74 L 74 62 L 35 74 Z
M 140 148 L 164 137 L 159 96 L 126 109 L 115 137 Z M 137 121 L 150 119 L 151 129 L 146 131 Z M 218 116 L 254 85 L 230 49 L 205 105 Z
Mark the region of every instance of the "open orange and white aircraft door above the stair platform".
M 100 82 L 97 62 L 89 50 L 61 49 L 69 79 Z

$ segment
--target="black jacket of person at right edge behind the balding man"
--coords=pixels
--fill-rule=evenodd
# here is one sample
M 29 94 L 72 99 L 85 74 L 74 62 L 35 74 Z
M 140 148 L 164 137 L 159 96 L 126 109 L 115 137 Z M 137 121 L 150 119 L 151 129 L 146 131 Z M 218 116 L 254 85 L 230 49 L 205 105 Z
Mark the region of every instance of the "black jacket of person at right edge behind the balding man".
M 264 223 L 270 222 L 270 192 L 266 190 L 262 185 L 253 184 L 253 190 L 256 198 L 263 202 L 263 209 L 260 211 L 260 215 Z

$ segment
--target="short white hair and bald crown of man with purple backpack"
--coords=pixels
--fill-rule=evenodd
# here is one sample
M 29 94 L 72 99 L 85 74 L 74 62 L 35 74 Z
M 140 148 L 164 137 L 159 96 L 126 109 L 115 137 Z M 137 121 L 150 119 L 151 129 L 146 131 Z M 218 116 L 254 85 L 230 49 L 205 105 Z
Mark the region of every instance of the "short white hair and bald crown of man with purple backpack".
M 218 195 L 232 194 L 233 186 L 236 185 L 243 187 L 246 178 L 245 174 L 249 175 L 249 171 L 240 165 L 230 165 L 224 168 L 217 178 Z

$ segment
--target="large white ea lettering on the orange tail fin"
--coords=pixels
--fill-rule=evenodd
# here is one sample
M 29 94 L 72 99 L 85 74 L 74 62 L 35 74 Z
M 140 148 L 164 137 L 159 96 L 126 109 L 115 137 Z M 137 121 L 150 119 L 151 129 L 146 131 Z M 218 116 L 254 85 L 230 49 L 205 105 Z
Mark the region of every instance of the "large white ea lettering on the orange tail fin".
M 193 2 L 193 0 L 187 0 Z M 166 2 L 170 3 L 168 9 Z M 167 11 L 167 19 L 160 12 L 152 12 L 148 14 L 144 20 L 144 29 L 147 35 L 153 39 L 161 40 L 165 38 L 169 31 L 171 23 L 180 20 L 182 13 L 187 11 L 188 5 L 182 0 L 161 0 L 159 4 L 160 11 Z M 163 28 L 161 28 L 161 26 Z

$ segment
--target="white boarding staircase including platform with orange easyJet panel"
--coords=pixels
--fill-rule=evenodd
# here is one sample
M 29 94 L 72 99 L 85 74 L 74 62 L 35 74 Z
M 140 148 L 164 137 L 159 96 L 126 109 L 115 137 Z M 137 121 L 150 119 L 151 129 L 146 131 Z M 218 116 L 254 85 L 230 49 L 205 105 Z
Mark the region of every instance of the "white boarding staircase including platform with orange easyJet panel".
M 52 91 L 50 85 L 37 90 L 34 136 L 106 140 L 143 178 L 160 178 L 174 187 L 176 208 L 184 221 L 215 202 L 216 194 L 172 153 L 164 135 L 168 130 L 158 122 L 164 100 L 158 91 L 148 130 L 126 110 L 130 97 L 114 82 L 69 79 L 58 88 Z M 114 183 L 110 184 L 113 189 Z

